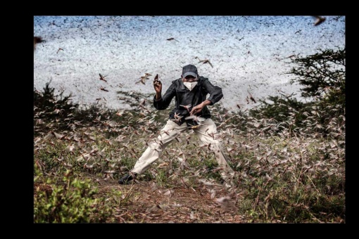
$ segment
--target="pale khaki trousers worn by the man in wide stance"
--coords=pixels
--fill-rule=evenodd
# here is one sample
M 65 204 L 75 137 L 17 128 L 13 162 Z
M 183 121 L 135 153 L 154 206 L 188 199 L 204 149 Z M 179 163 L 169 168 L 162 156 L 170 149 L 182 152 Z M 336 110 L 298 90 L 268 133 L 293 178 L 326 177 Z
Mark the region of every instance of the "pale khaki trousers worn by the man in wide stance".
M 160 130 L 158 140 L 149 144 L 149 147 L 144 151 L 141 157 L 139 157 L 136 164 L 134 164 L 134 168 L 131 172 L 141 174 L 148 169 L 150 165 L 160 157 L 162 150 L 185 130 L 189 130 L 186 123 L 179 126 L 172 120 L 168 120 L 165 127 Z M 233 169 L 227 163 L 227 155 L 222 148 L 217 127 L 213 120 L 210 118 L 204 120 L 201 122 L 201 127 L 194 129 L 194 132 L 199 137 L 201 143 L 206 145 L 210 144 L 210 150 L 214 150 L 215 159 L 222 168 L 220 170 L 222 179 L 227 179 L 229 176 L 233 176 Z

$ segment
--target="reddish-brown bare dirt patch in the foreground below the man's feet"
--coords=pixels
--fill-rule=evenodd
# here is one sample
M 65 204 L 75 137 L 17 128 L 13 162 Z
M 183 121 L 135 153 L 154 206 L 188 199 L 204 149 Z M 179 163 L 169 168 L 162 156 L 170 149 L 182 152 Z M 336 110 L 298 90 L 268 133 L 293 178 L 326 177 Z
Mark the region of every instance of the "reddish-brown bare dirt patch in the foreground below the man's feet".
M 120 185 L 117 180 L 101 181 L 99 195 L 118 190 L 118 223 L 187 224 L 187 223 L 248 223 L 236 207 L 236 188 L 201 183 L 186 183 L 174 188 L 161 188 L 153 181 L 134 181 Z

